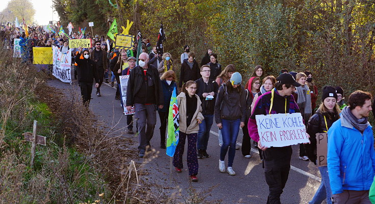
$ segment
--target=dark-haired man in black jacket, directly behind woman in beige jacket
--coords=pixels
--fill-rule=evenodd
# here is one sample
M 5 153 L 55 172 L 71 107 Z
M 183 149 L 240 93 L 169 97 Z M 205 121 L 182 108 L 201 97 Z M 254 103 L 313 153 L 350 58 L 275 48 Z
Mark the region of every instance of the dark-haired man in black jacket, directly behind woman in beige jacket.
M 186 83 L 190 80 L 195 81 L 201 77 L 199 65 L 194 57 L 195 54 L 190 52 L 189 58 L 183 60 L 180 71 L 180 80 L 178 82 L 180 87 L 182 86 L 182 83 Z

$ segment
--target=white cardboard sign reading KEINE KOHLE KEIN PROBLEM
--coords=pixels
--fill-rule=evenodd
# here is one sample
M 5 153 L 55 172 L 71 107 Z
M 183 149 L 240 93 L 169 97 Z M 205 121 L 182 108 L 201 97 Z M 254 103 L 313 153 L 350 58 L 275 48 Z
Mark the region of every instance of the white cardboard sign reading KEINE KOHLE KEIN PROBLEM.
M 301 113 L 256 115 L 259 140 L 265 147 L 309 142 Z

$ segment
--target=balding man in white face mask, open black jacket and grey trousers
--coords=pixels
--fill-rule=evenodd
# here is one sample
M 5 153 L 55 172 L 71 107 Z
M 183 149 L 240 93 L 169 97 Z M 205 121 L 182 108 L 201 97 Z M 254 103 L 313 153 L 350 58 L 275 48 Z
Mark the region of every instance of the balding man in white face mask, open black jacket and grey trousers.
M 126 91 L 126 108 L 135 109 L 138 124 L 139 157 L 145 156 L 146 146 L 151 147 L 150 140 L 156 125 L 156 108 L 163 108 L 163 88 L 157 68 L 149 64 L 147 53 L 139 55 L 139 65 L 130 72 Z M 146 130 L 147 125 L 147 130 Z

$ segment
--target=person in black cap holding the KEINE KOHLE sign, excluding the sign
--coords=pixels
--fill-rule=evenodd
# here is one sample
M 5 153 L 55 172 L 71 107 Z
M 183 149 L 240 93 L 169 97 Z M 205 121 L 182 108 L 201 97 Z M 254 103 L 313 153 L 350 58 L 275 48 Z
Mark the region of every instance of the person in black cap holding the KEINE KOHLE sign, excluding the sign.
M 270 190 L 267 198 L 269 204 L 281 203 L 280 195 L 288 180 L 292 149 L 290 145 L 271 148 L 262 146 L 259 141 L 255 116 L 300 112 L 291 94 L 295 89 L 294 87 L 301 84 L 294 80 L 294 77 L 289 73 L 280 74 L 276 80 L 275 89 L 258 97 L 248 122 L 249 135 L 254 141 L 258 142 L 258 148 L 262 150 L 264 176 Z

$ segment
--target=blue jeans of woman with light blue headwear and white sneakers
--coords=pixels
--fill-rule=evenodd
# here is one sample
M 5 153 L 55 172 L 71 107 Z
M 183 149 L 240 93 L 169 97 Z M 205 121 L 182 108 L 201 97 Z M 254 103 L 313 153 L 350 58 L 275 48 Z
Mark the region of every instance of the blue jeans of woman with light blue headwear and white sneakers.
M 221 120 L 223 128 L 221 134 L 223 135 L 223 145 L 220 149 L 220 160 L 224 161 L 225 155 L 228 152 L 228 167 L 232 167 L 234 155 L 236 153 L 236 141 L 239 131 L 239 124 L 241 120 Z

